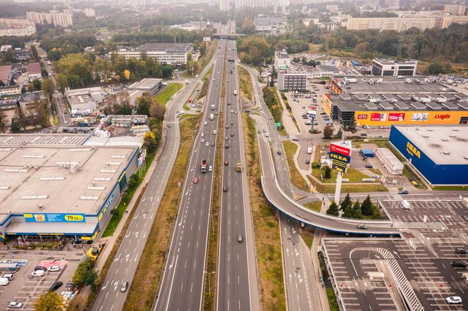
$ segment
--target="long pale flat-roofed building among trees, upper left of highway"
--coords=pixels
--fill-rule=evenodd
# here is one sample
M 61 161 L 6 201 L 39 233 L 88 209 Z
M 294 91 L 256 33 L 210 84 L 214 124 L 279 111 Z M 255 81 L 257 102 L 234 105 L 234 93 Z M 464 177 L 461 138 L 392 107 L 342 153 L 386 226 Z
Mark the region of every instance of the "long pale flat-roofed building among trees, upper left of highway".
M 111 53 L 125 56 L 125 59 L 140 59 L 142 53 L 146 53 L 147 57 L 154 57 L 160 63 L 182 65 L 187 63 L 188 54 L 192 53 L 192 50 L 193 44 L 191 43 L 147 43 L 136 49 L 121 49 Z

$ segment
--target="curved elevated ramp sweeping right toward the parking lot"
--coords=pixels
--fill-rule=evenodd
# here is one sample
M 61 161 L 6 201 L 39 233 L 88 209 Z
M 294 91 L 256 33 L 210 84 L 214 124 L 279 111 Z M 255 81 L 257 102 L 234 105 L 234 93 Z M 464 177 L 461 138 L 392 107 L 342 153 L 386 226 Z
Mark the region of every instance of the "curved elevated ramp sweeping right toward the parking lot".
M 266 132 L 269 132 L 268 129 L 271 129 L 271 127 L 267 126 L 266 119 L 260 118 L 257 115 L 254 116 L 254 119 L 257 122 L 257 129 L 265 129 Z M 277 133 L 272 134 L 274 135 Z M 273 150 L 270 148 L 269 143 L 270 138 L 265 137 L 264 134 L 257 134 L 257 139 L 260 148 L 261 187 L 268 201 L 271 205 L 278 208 L 278 210 L 281 210 L 281 212 L 284 212 L 286 215 L 300 222 L 304 222 L 304 224 L 309 224 L 328 231 L 345 234 L 373 234 L 385 236 L 399 234 L 398 230 L 393 227 L 393 223 L 390 221 L 343 219 L 309 210 L 305 208 L 304 205 L 295 202 L 293 198 L 286 195 L 278 184 L 276 170 L 274 168 L 275 165 L 273 165 Z M 357 224 L 365 224 L 367 229 L 358 229 Z

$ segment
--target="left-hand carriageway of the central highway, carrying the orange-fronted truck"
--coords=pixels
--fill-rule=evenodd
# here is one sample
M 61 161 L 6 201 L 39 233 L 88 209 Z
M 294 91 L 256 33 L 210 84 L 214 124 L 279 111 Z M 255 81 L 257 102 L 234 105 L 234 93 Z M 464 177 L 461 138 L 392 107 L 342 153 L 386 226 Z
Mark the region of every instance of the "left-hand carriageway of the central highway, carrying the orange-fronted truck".
M 202 308 L 203 287 L 207 277 L 204 269 L 225 50 L 226 41 L 220 40 L 209 80 L 202 125 L 192 146 L 171 246 L 166 256 L 154 310 Z M 205 173 L 201 172 L 202 160 L 206 160 Z

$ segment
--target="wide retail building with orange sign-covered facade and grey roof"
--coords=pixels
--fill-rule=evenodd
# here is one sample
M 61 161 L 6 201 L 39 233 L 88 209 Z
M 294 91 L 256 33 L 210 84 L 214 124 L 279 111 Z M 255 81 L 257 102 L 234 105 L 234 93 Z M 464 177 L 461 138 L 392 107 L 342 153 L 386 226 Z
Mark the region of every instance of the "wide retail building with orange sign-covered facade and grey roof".
M 459 125 L 468 123 L 468 96 L 426 77 L 329 80 L 322 106 L 343 125 Z

